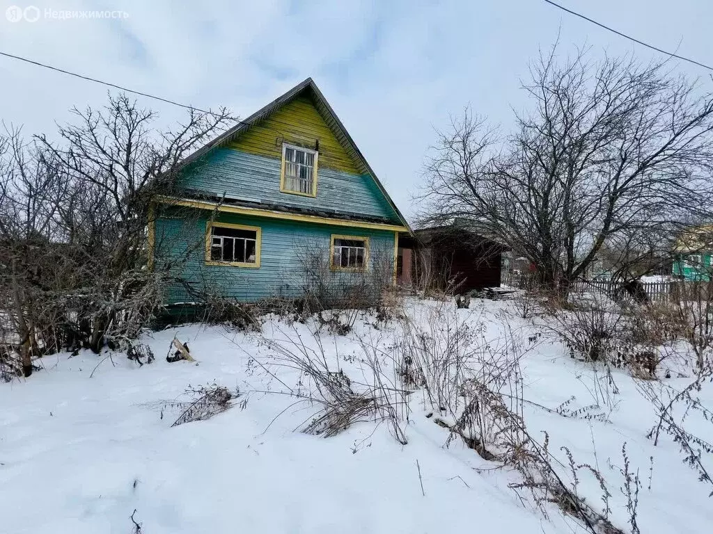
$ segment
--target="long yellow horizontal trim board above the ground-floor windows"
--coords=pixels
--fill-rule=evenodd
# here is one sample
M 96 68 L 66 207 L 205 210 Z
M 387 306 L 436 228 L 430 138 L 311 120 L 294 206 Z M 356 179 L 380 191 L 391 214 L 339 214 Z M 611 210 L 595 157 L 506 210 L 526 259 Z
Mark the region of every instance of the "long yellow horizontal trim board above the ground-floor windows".
M 239 215 L 252 215 L 257 217 L 267 217 L 269 219 L 282 219 L 285 221 L 309 222 L 314 224 L 329 224 L 330 226 L 348 226 L 349 228 L 363 228 L 371 230 L 403 231 L 408 232 L 406 226 L 396 226 L 395 224 L 370 223 L 366 221 L 349 221 L 347 219 L 334 219 L 332 217 L 322 217 L 317 215 L 299 215 L 286 213 L 284 211 L 272 211 L 269 209 L 245 208 L 242 206 L 227 206 L 217 202 L 206 202 L 193 199 L 178 199 L 175 197 L 165 197 L 157 195 L 156 201 L 169 204 L 170 206 L 183 206 L 195 209 L 207 209 L 210 211 L 222 211 L 224 213 L 234 213 Z

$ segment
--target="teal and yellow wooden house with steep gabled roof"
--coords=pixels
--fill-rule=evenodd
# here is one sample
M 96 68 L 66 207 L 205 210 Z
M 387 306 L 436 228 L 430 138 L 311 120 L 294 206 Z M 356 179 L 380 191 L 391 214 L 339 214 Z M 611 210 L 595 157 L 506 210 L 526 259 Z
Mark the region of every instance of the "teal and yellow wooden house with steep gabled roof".
M 291 298 L 317 271 L 395 278 L 411 230 L 311 78 L 182 165 L 149 229 L 155 268 L 179 266 L 168 304 Z

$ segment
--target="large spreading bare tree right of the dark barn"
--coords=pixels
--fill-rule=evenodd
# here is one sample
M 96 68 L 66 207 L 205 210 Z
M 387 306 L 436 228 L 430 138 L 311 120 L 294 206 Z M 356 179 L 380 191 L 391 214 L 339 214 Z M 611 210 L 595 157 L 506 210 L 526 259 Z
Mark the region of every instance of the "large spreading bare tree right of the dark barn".
M 670 250 L 679 223 L 709 216 L 713 93 L 666 63 L 555 50 L 531 66 L 511 135 L 470 110 L 438 132 L 424 198 L 426 219 L 473 220 L 566 293 L 605 244 Z

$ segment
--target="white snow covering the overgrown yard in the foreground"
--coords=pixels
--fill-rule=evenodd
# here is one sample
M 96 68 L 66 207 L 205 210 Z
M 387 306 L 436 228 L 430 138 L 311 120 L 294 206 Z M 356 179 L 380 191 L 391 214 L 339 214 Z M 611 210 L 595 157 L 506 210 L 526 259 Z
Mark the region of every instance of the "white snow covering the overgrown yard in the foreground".
M 422 320 L 429 305 L 410 300 L 407 311 Z M 473 300 L 457 314 L 493 339 L 506 324 L 525 342 L 536 333 L 508 302 Z M 374 321 L 360 318 L 347 336 L 322 335 L 327 357 L 353 379 L 364 339 L 384 351 L 394 342 L 396 325 L 376 328 Z M 270 366 L 263 340 L 314 346 L 310 326 L 269 318 L 260 335 L 170 328 L 143 338 L 157 356 L 150 365 L 139 367 L 121 353 L 60 354 L 43 358 L 45 370 L 30 379 L 0 384 L 0 530 L 130 533 L 135 510 L 145 534 L 585 531 L 554 505 L 546 520 L 523 504 L 508 488 L 520 480 L 515 471 L 496 468 L 460 439 L 446 447 L 448 431 L 426 417 L 431 409 L 423 394 L 411 395 L 406 445 L 388 424 L 374 422 L 327 439 L 295 431 L 316 407 L 286 394 L 299 375 Z M 188 342 L 196 363 L 165 361 L 174 336 Z M 521 362 L 523 393 L 531 402 L 525 421 L 533 436 L 547 431 L 549 450 L 563 463 L 560 475 L 572 481 L 562 447 L 577 464 L 598 468 L 612 494 L 612 523 L 630 532 L 620 492 L 626 443 L 630 469 L 642 481 L 641 532 L 710 532 L 711 486 L 697 481 L 670 438 L 658 446 L 647 439 L 655 413 L 635 380 L 615 371 L 619 393 L 602 400 L 601 370 L 571 359 L 560 342 L 535 343 Z M 675 376 L 667 380 L 674 387 L 690 382 Z M 163 404 L 185 398 L 189 384 L 213 382 L 240 390 L 235 407 L 171 427 L 178 413 Z M 713 405 L 711 384 L 700 394 Z M 571 397 L 571 412 L 598 407 L 582 417 L 543 409 Z M 691 424 L 713 438 L 713 425 Z M 599 482 L 585 470 L 578 478 L 578 493 L 603 507 Z

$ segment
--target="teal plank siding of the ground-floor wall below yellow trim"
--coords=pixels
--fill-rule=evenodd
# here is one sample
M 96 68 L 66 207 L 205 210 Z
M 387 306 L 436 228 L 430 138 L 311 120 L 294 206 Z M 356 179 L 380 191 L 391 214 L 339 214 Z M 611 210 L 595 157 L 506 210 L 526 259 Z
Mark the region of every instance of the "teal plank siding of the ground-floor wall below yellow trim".
M 163 216 L 159 216 L 155 224 L 156 268 L 177 265 L 178 272 L 175 274 L 193 288 L 213 290 L 224 297 L 243 302 L 271 296 L 299 296 L 300 283 L 304 279 L 300 255 L 305 250 L 324 250 L 325 258 L 328 258 L 332 234 L 344 234 L 342 226 L 220 214 L 217 222 L 260 226 L 260 268 L 212 266 L 205 263 L 205 229 L 210 212 L 182 209 L 175 212 L 174 218 L 170 218 L 170 209 L 163 211 Z M 393 261 L 394 232 L 350 229 L 349 234 L 369 237 L 370 269 L 374 268 L 376 262 L 386 259 Z M 329 276 L 345 276 L 345 273 L 332 273 Z M 180 284 L 167 288 L 167 304 L 194 300 Z

